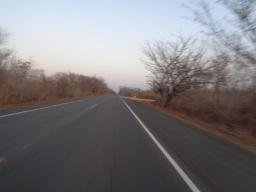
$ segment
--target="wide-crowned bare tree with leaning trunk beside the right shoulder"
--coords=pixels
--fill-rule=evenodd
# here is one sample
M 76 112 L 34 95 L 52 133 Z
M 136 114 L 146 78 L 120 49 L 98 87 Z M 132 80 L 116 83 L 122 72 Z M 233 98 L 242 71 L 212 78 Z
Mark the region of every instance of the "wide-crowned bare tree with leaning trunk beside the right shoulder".
M 175 42 L 147 42 L 143 53 L 146 59 L 142 62 L 151 72 L 148 84 L 161 94 L 163 107 L 179 93 L 211 82 L 212 67 L 204 58 L 205 47 L 195 38 L 180 35 Z

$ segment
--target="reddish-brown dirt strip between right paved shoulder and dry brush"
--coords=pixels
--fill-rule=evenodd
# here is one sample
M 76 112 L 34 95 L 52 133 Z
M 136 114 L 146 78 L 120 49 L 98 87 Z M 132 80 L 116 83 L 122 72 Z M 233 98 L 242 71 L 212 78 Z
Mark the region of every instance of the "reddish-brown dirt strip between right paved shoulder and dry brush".
M 241 131 L 239 129 L 230 129 L 227 128 L 227 126 L 221 124 L 212 124 L 202 119 L 198 119 L 193 116 L 188 116 L 185 113 L 180 113 L 172 108 L 162 108 L 159 105 L 156 105 L 154 100 L 151 99 L 129 99 L 136 100 L 137 102 L 143 103 L 144 105 L 147 105 L 163 113 L 166 113 L 169 116 L 180 119 L 198 128 L 204 129 L 205 131 L 209 131 L 210 133 L 215 134 L 225 140 L 228 140 L 231 143 L 234 143 L 242 148 L 245 148 L 249 151 L 252 151 L 253 153 L 256 153 L 256 137 L 253 137 L 253 135 L 248 132 Z

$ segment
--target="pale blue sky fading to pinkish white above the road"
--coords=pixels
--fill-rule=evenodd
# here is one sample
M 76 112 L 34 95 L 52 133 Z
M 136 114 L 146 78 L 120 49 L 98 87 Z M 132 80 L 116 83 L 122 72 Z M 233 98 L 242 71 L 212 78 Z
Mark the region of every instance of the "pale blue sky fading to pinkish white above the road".
M 47 75 L 70 71 L 102 76 L 109 86 L 146 88 L 140 62 L 146 40 L 172 39 L 197 25 L 182 19 L 184 1 L 0 0 L 0 25 L 11 32 L 9 47 L 33 57 Z M 185 0 L 186 1 L 186 0 Z

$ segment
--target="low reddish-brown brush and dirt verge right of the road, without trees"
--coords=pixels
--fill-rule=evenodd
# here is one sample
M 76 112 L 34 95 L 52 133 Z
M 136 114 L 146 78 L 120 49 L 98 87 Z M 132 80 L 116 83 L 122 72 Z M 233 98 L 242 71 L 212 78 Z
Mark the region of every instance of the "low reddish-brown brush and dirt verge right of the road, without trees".
M 120 93 L 256 152 L 255 95 L 240 90 L 218 95 L 210 89 L 187 90 L 164 108 L 159 96 L 145 99 L 144 92 L 155 95 L 152 91 L 142 91 L 140 97 L 133 91 Z

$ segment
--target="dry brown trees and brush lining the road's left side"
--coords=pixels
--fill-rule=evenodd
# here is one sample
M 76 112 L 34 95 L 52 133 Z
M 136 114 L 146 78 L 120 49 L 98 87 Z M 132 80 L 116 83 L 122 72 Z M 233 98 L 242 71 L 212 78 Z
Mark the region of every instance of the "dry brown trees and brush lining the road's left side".
M 8 36 L 0 27 L 0 108 L 114 93 L 104 79 L 96 76 L 62 72 L 46 76 L 33 67 L 33 61 L 19 59 L 4 47 Z

